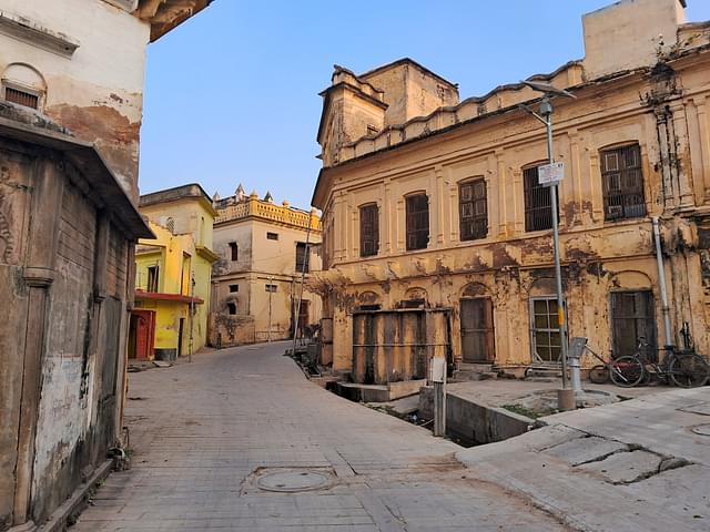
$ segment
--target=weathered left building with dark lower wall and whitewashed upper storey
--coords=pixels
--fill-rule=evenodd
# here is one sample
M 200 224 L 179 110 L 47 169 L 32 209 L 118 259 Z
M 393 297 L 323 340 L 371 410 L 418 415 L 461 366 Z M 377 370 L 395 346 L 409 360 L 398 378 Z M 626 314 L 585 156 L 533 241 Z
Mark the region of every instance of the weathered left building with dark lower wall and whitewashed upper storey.
M 145 47 L 206 3 L 2 2 L 0 530 L 34 530 L 120 440 L 133 244 L 151 236 Z

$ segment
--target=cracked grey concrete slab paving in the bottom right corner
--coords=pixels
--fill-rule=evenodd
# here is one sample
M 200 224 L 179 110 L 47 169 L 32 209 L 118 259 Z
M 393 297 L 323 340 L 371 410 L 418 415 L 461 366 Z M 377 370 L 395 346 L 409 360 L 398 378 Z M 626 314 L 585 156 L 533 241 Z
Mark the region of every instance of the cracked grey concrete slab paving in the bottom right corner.
M 710 530 L 710 388 L 542 420 L 547 427 L 457 458 L 471 477 L 529 498 L 576 530 Z

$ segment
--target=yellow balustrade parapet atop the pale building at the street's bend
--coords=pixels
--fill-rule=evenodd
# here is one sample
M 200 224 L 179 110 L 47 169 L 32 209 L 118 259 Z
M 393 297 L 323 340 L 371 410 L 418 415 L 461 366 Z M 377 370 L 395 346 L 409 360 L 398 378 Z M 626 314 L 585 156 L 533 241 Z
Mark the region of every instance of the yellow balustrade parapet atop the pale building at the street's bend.
M 276 205 L 260 200 L 255 194 L 241 201 L 236 196 L 225 197 L 215 202 L 214 207 L 217 211 L 217 216 L 214 218 L 215 224 L 254 217 L 304 229 L 311 226 L 311 231 L 321 231 L 321 218 L 315 208 L 308 213 L 291 207 L 288 202 Z

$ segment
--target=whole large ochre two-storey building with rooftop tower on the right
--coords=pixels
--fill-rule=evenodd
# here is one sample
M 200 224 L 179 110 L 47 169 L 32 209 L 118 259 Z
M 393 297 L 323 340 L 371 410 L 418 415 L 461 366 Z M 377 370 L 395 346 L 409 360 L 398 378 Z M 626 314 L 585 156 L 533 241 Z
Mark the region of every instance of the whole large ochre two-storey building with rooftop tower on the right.
M 682 345 L 686 323 L 710 352 L 710 24 L 683 8 L 589 13 L 586 57 L 529 78 L 576 96 L 552 101 L 569 335 L 615 356 L 640 336 Z M 362 75 L 336 66 L 322 95 L 324 361 L 365 382 L 422 378 L 433 349 L 516 374 L 556 364 L 546 132 L 519 105 L 539 93 L 516 83 L 459 102 L 455 84 L 400 60 Z

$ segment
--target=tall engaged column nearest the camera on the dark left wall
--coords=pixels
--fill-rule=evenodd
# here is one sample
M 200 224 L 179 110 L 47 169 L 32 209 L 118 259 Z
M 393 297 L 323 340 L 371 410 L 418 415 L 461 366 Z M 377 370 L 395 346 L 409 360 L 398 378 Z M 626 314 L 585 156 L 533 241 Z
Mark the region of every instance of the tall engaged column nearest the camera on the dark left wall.
M 49 288 L 54 280 L 57 236 L 64 187 L 63 166 L 57 161 L 42 158 L 36 165 L 33 181 L 28 260 L 22 274 L 28 288 L 28 317 L 13 524 L 23 524 L 29 519 L 47 307 Z

